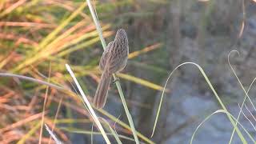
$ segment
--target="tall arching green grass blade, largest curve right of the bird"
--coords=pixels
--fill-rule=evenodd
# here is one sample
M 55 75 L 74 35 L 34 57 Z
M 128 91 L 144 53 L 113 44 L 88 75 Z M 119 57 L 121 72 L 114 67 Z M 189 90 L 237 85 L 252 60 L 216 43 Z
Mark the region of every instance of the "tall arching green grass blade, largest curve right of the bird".
M 219 98 L 219 96 L 218 96 L 216 90 L 214 89 L 214 86 L 212 86 L 212 84 L 211 84 L 209 78 L 206 76 L 206 73 L 204 72 L 204 70 L 202 69 L 202 67 L 199 66 L 198 64 L 194 63 L 194 62 L 184 62 L 184 63 L 178 65 L 178 66 L 170 73 L 169 77 L 168 77 L 167 80 L 166 80 L 166 84 L 167 84 L 167 82 L 169 81 L 170 76 L 174 73 L 175 70 L 177 70 L 179 67 L 184 66 L 184 65 L 187 65 L 187 64 L 194 65 L 194 66 L 197 66 L 197 67 L 198 67 L 198 70 L 200 70 L 202 76 L 206 79 L 206 82 L 207 82 L 207 84 L 210 86 L 210 89 L 214 92 L 214 95 L 215 95 L 215 97 L 217 98 L 218 103 L 222 106 L 222 109 L 223 109 L 223 110 L 226 110 L 226 111 L 227 111 L 226 106 L 223 104 L 221 98 Z M 164 89 L 166 89 L 166 84 L 165 84 L 165 86 L 164 86 Z M 162 99 L 163 99 L 163 96 L 164 96 L 164 91 L 162 92 L 161 100 L 160 100 L 160 103 L 159 103 L 159 106 L 158 106 L 158 112 L 157 112 L 157 116 L 156 116 L 155 121 L 154 121 L 154 127 L 153 127 L 153 131 L 152 131 L 152 134 L 151 134 L 151 138 L 152 138 L 153 135 L 154 135 L 155 127 L 156 127 L 157 122 L 158 122 L 158 117 L 159 117 L 160 110 L 161 110 L 161 106 L 162 106 Z M 239 138 L 241 139 L 242 143 L 247 143 L 247 142 L 246 142 L 246 139 L 243 137 L 241 131 L 238 129 L 238 126 L 235 125 L 235 122 L 234 122 L 234 120 L 232 119 L 232 117 L 231 117 L 229 114 L 226 114 L 226 115 L 227 115 L 227 117 L 229 118 L 231 124 L 234 126 L 234 129 L 235 129 L 235 131 L 237 132 L 237 134 L 238 134 Z

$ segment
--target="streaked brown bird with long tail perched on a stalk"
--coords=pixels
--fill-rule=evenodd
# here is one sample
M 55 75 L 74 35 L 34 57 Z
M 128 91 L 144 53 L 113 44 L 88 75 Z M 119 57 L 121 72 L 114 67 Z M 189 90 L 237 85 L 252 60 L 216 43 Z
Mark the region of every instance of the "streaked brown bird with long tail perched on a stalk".
M 94 96 L 94 106 L 96 108 L 99 109 L 105 106 L 112 74 L 125 68 L 128 54 L 129 46 L 126 31 L 119 29 L 115 35 L 114 41 L 106 46 L 106 50 L 103 52 L 99 62 L 102 76 Z

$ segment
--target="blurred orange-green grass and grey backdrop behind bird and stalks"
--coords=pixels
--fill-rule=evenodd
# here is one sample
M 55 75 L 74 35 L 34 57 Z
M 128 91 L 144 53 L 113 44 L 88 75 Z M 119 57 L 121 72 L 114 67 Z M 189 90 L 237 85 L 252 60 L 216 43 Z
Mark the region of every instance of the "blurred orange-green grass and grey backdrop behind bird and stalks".
M 162 86 L 170 71 L 182 62 L 196 62 L 202 66 L 231 112 L 237 114 L 238 103 L 242 102 L 244 94 L 228 66 L 227 55 L 231 50 L 240 52 L 239 57 L 231 54 L 231 63 L 242 84 L 246 88 L 250 86 L 256 70 L 254 1 L 92 2 L 106 42 L 112 41 L 118 28 L 124 28 L 128 34 L 130 60 L 118 76 L 136 130 L 141 134 L 150 138 Z M 69 63 L 91 100 L 100 78 L 98 61 L 102 51 L 85 1 L 0 1 L 2 73 L 20 74 L 75 91 L 65 67 Z M 0 79 L 1 143 L 38 143 L 39 138 L 42 143 L 50 143 L 49 134 L 40 128 L 43 110 L 44 122 L 54 129 L 62 142 L 90 142 L 93 120 L 77 96 L 37 82 Z M 179 69 L 167 89 L 157 132 L 150 139 L 156 143 L 187 143 L 200 118 L 218 110 L 218 104 L 194 66 Z M 255 99 L 253 92 L 254 88 L 250 93 Z M 204 107 L 207 102 L 211 103 Z M 197 107 L 201 104 L 202 107 Z M 251 107 L 248 105 L 249 111 Z M 107 114 L 128 123 L 114 85 L 110 88 L 106 107 L 99 112 L 111 126 L 115 121 Z M 242 121 L 246 122 L 246 118 Z M 115 126 L 118 134 L 132 138 L 130 130 L 118 124 Z M 225 130 L 210 131 L 217 135 L 208 139 L 199 136 L 197 143 L 210 142 L 211 138 L 217 138 L 217 143 L 228 142 L 232 130 L 227 125 L 227 130 L 222 127 L 227 136 L 222 134 Z M 255 135 L 255 131 L 252 134 Z M 102 136 L 96 134 L 94 142 L 102 143 Z M 134 143 L 126 139 L 123 142 Z

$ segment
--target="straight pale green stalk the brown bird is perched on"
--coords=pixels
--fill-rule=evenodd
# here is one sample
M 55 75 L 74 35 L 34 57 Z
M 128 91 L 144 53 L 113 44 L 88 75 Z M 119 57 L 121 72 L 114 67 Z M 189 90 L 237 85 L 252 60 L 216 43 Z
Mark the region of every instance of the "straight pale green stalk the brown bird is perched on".
M 86 0 L 86 2 L 87 2 L 87 5 L 89 6 L 90 14 L 92 15 L 92 18 L 94 19 L 94 24 L 95 24 L 95 26 L 98 30 L 98 35 L 99 35 L 99 38 L 101 39 L 103 49 L 105 50 L 106 49 L 106 42 L 105 42 L 105 39 L 103 38 L 103 35 L 102 35 L 102 28 L 101 28 L 101 26 L 98 22 L 98 18 L 96 17 L 95 11 L 93 9 L 93 6 L 90 3 L 90 0 Z M 113 74 L 113 77 L 114 77 L 114 80 L 117 79 L 116 74 Z M 122 93 L 122 88 L 121 88 L 120 82 L 117 81 L 116 86 L 118 87 L 118 92 L 119 92 L 119 95 L 120 95 L 120 98 L 121 98 L 121 101 L 122 101 L 122 106 L 124 107 L 124 109 L 126 111 L 126 116 L 127 116 L 128 121 L 130 123 L 130 127 L 131 127 L 132 133 L 134 135 L 135 142 L 136 142 L 136 144 L 138 144 L 139 141 L 138 141 L 138 136 L 136 134 L 135 127 L 134 127 L 134 122 L 133 122 L 133 119 L 132 119 L 132 117 L 130 115 L 130 112 L 128 110 L 128 106 L 126 105 L 126 100 L 125 100 L 124 94 Z

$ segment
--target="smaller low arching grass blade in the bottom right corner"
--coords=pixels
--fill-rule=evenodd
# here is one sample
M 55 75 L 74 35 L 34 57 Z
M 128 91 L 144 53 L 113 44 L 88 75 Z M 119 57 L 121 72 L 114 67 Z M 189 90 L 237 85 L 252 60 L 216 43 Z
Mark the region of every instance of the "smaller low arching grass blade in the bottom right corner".
M 194 133 L 192 134 L 192 137 L 190 139 L 190 144 L 192 144 L 193 140 L 194 140 L 194 135 L 197 133 L 198 129 L 200 126 L 202 126 L 202 124 L 204 122 L 206 122 L 211 116 L 213 116 L 214 114 L 218 114 L 218 113 L 225 113 L 225 114 L 228 114 L 230 115 L 232 118 L 234 118 L 234 116 L 232 114 L 230 114 L 228 111 L 226 110 L 216 110 L 214 113 L 208 115 L 199 125 L 198 127 L 196 128 L 196 130 L 194 130 Z M 234 120 L 236 120 L 236 122 L 238 122 L 238 119 L 234 118 Z M 246 134 L 250 137 L 250 139 L 255 143 L 255 140 L 254 138 L 250 135 L 250 133 L 242 126 L 242 124 L 240 122 L 238 122 L 239 126 L 242 127 L 242 129 L 246 132 Z

